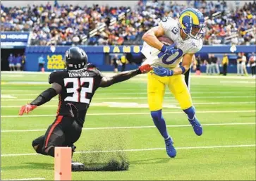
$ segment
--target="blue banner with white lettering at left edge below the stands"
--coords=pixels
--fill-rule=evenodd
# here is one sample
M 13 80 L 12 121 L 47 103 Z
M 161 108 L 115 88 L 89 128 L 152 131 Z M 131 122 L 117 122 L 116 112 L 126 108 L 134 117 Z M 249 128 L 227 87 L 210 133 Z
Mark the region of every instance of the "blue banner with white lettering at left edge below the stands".
M 28 42 L 30 32 L 1 32 L 1 42 Z

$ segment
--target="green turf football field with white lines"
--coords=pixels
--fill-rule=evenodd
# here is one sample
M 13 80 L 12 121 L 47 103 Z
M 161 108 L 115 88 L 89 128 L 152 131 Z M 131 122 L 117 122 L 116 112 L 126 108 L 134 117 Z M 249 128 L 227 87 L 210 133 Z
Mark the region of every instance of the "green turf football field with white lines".
M 53 180 L 54 159 L 31 142 L 54 120 L 57 99 L 18 116 L 47 85 L 47 73 L 1 73 L 1 179 Z M 173 96 L 164 118 L 177 149 L 169 158 L 147 108 L 145 75 L 98 89 L 87 111 L 79 151 L 120 150 L 129 170 L 72 173 L 73 180 L 255 180 L 255 79 L 236 75 L 192 77 L 191 94 L 204 133 L 197 137 Z M 95 162 L 104 162 L 102 160 Z M 116 152 L 112 152 L 112 155 Z

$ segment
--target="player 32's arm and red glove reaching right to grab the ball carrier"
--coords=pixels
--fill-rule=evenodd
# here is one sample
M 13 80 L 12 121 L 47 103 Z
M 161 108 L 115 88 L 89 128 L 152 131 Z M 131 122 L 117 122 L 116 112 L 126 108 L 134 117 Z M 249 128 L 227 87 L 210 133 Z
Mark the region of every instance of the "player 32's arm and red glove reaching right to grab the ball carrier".
M 148 73 L 148 72 L 150 72 L 150 70 L 152 70 L 152 67 L 149 64 L 145 64 L 145 65 L 140 66 L 140 68 L 138 68 L 136 70 L 130 70 L 130 71 L 118 73 L 117 75 L 114 75 L 112 77 L 102 77 L 102 81 L 100 82 L 99 87 L 109 87 L 118 82 L 128 80 L 131 77 L 134 77 L 141 73 Z

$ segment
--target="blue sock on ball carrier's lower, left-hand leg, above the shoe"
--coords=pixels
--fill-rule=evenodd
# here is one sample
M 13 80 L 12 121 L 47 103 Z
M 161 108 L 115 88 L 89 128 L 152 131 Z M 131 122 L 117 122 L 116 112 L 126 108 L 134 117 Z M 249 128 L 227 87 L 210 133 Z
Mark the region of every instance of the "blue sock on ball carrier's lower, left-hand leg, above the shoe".
M 169 134 L 166 130 L 166 123 L 161 114 L 161 109 L 159 111 L 151 111 L 151 116 L 153 118 L 154 125 L 156 125 L 162 137 L 164 137 L 164 139 L 167 139 L 169 137 Z

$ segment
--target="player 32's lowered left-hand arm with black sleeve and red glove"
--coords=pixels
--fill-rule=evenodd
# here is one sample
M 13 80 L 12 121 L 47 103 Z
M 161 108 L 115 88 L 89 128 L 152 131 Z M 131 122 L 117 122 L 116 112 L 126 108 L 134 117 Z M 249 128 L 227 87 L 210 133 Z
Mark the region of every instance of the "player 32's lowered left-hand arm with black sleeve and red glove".
M 51 85 L 51 88 L 45 90 L 37 98 L 32 101 L 30 104 L 26 104 L 20 108 L 19 115 L 23 115 L 23 113 L 29 113 L 30 111 L 34 110 L 37 108 L 37 106 L 41 106 L 42 104 L 50 101 L 54 96 L 59 94 L 61 92 L 61 85 L 58 83 L 54 82 Z

